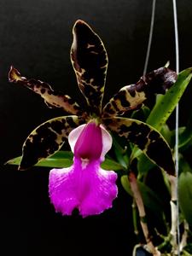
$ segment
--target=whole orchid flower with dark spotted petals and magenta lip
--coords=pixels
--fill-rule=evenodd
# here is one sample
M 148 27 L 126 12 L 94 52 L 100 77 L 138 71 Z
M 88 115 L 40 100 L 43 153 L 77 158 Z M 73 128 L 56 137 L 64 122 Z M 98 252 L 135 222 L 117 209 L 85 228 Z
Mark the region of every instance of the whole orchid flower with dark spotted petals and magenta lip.
M 148 104 L 156 94 L 165 94 L 177 74 L 160 67 L 137 84 L 123 87 L 102 108 L 108 55 L 102 40 L 83 20 L 77 20 L 73 26 L 71 60 L 87 103 L 86 111 L 70 96 L 52 90 L 49 84 L 21 77 L 14 67 L 9 71 L 9 81 L 38 93 L 49 108 L 63 108 L 73 114 L 50 119 L 32 131 L 23 145 L 19 168 L 24 170 L 55 154 L 68 138 L 74 154 L 73 166 L 50 171 L 49 197 L 56 212 L 69 215 L 78 208 L 82 216 L 88 216 L 112 207 L 117 196 L 116 173 L 100 167 L 112 146 L 108 131 L 136 144 L 162 170 L 174 174 L 172 152 L 164 137 L 150 125 L 120 115 Z

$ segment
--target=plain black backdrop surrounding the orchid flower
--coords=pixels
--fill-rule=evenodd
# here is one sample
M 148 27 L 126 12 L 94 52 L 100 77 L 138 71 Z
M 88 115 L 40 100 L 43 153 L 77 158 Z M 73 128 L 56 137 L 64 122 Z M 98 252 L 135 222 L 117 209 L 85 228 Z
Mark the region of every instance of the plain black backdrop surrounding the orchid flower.
M 72 28 L 82 19 L 100 35 L 108 51 L 107 102 L 143 74 L 152 1 L 0 0 L 0 250 L 1 255 L 131 255 L 134 236 L 131 199 L 119 187 L 113 209 L 82 219 L 55 214 L 48 198 L 48 169 L 17 172 L 3 166 L 21 154 L 28 134 L 61 115 L 30 90 L 9 84 L 14 65 L 27 78 L 41 79 L 82 101 L 69 58 Z M 192 1 L 177 1 L 180 69 L 192 66 Z M 171 61 L 175 68 L 172 1 L 158 1 L 148 71 Z M 189 86 L 180 103 L 180 124 L 190 112 Z M 174 120 L 174 117 L 172 117 Z

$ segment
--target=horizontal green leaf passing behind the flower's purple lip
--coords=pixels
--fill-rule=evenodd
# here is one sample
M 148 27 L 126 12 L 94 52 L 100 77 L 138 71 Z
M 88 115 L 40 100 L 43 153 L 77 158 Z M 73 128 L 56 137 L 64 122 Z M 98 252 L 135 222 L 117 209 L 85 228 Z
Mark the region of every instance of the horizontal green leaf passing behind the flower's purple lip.
M 8 165 L 20 165 L 21 156 L 7 161 Z M 71 151 L 59 151 L 49 158 L 39 161 L 35 166 L 51 167 L 51 168 L 67 168 L 73 165 L 73 153 Z M 119 171 L 123 170 L 124 167 L 121 166 L 114 160 L 106 158 L 102 163 L 102 168 L 108 171 Z

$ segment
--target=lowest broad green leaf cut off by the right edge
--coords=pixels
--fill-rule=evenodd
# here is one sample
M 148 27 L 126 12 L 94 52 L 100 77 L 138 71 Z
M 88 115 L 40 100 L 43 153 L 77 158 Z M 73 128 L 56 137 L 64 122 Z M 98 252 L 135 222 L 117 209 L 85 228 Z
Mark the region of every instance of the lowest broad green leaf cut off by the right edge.
M 178 199 L 184 218 L 192 225 L 192 173 L 182 172 L 178 177 Z

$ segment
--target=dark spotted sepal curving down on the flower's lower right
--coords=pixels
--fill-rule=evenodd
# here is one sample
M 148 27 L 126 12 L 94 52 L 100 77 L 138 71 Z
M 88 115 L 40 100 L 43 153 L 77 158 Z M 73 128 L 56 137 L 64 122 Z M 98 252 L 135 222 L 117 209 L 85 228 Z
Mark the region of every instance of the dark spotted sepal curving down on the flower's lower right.
M 152 126 L 136 119 L 104 119 L 108 129 L 134 143 L 157 166 L 169 174 L 175 174 L 172 151 L 164 137 Z

